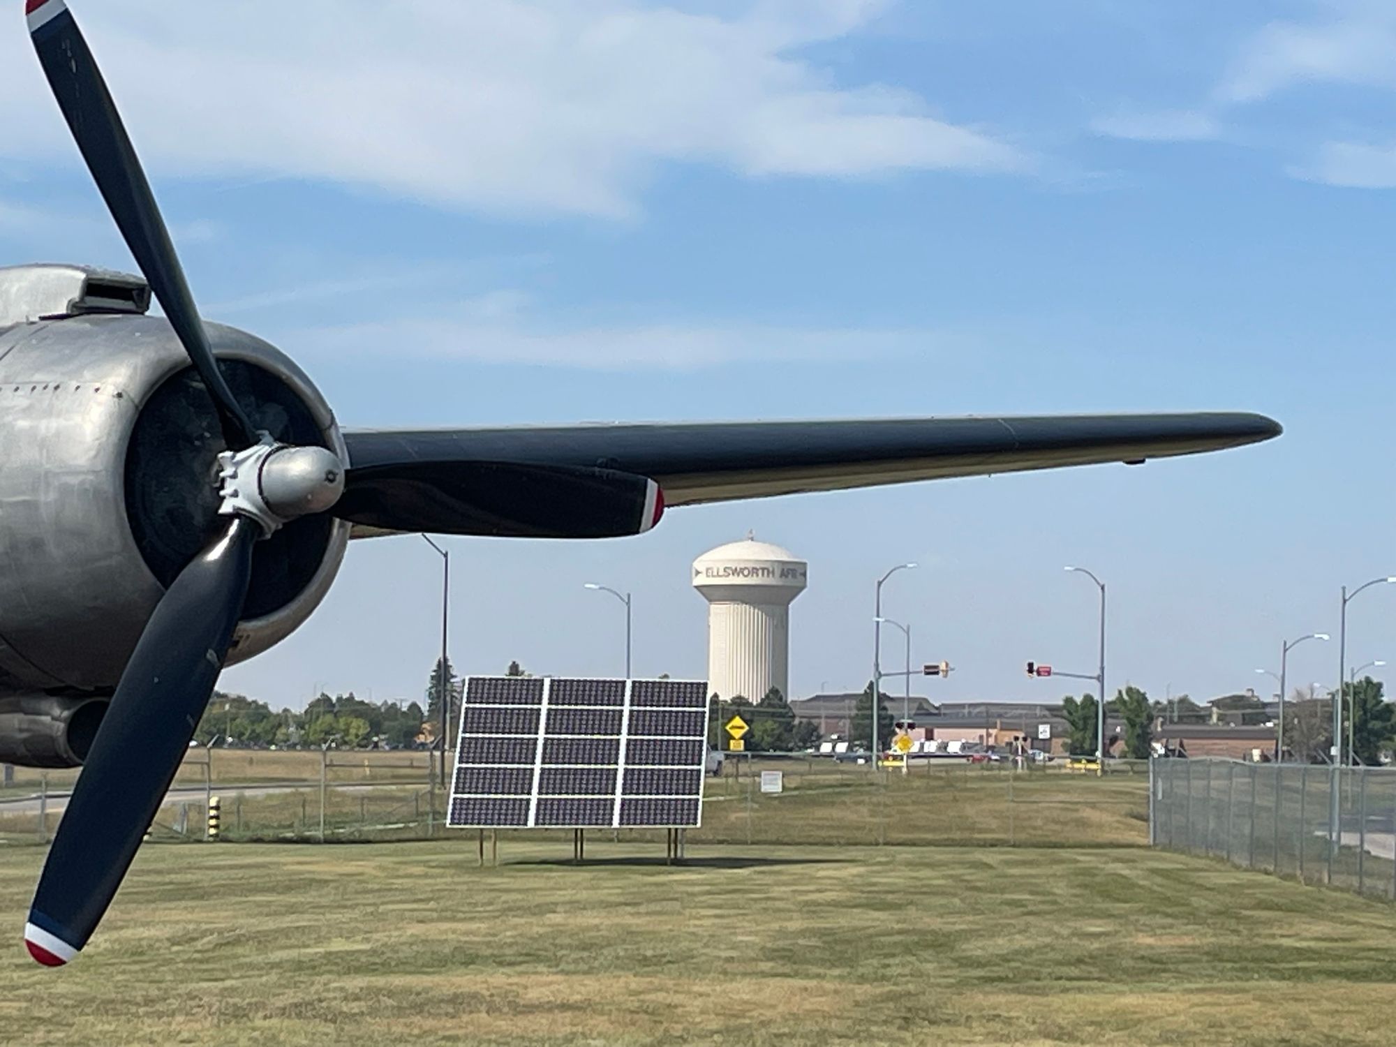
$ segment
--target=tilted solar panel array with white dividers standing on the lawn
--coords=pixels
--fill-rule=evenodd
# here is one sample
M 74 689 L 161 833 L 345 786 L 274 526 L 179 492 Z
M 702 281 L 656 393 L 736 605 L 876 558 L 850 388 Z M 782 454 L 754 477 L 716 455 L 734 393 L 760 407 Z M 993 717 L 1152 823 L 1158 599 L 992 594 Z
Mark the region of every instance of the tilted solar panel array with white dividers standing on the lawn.
M 697 826 L 706 755 L 706 681 L 473 676 L 447 821 Z

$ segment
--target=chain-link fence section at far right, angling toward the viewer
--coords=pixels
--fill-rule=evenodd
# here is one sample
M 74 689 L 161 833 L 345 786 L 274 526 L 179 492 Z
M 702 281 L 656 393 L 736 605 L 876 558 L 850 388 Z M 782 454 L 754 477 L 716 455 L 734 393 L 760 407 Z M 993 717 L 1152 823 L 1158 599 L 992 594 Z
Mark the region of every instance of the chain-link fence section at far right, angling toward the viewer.
M 1396 900 L 1396 769 L 1153 761 L 1149 840 Z

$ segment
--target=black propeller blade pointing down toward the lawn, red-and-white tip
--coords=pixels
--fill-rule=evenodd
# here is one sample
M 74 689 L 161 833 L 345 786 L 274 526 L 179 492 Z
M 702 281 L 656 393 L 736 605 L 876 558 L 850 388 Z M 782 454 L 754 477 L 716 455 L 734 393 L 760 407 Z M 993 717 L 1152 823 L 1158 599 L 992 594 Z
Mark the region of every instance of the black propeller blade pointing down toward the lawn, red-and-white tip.
M 73 959 L 121 885 L 223 667 L 260 533 L 233 517 L 147 623 L 39 877 L 24 928 L 39 963 Z

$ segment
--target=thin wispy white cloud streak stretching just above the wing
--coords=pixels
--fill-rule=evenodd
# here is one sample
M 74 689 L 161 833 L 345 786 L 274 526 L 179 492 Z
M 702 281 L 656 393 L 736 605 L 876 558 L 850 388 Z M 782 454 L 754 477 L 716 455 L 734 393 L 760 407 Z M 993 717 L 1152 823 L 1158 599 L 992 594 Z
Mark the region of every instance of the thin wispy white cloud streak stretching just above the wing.
M 934 332 L 819 329 L 762 324 L 595 324 L 568 328 L 535 314 L 529 296 L 497 290 L 448 314 L 314 327 L 281 334 L 296 357 L 352 355 L 554 364 L 578 369 L 694 370 L 740 360 L 850 360 L 926 352 Z

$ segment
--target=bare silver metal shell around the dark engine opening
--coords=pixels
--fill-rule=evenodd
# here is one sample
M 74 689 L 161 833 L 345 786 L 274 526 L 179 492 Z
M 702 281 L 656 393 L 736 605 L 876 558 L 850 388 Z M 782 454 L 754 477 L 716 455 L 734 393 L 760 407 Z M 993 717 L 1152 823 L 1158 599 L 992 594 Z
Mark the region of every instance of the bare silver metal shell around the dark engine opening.
M 209 324 L 208 334 L 219 359 L 289 387 L 325 447 L 348 461 L 329 406 L 295 363 L 243 331 Z M 103 694 L 119 681 L 163 592 L 133 535 L 128 447 L 152 394 L 187 369 L 159 317 L 0 325 L 0 698 Z M 208 437 L 218 438 L 212 416 Z M 349 525 L 335 521 L 310 581 L 279 609 L 243 621 L 229 662 L 265 651 L 310 616 L 348 540 Z

